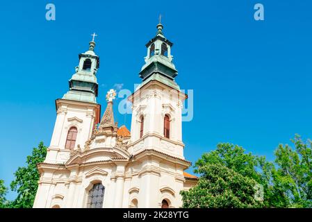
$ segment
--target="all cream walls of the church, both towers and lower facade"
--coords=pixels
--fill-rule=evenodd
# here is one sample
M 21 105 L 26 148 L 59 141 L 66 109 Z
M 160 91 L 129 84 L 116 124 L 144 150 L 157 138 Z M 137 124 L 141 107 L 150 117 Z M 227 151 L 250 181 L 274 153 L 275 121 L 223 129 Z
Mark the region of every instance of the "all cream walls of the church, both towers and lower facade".
M 178 94 L 164 92 L 159 85 L 150 85 L 142 90 L 133 103 L 131 139 L 127 151 L 136 154 L 145 149 L 155 149 L 174 157 L 184 159 L 181 142 L 181 102 Z M 144 136 L 140 139 L 140 115 L 145 116 Z M 170 139 L 163 137 L 163 117 L 170 115 Z M 67 131 L 71 126 L 78 129 L 75 148 L 83 148 L 90 138 L 95 121 L 95 108 L 89 108 L 72 101 L 60 101 L 54 133 L 48 148 L 46 160 L 51 164 L 63 164 L 69 159 L 65 150 Z M 90 150 L 113 149 L 115 137 L 99 136 L 90 145 Z M 114 151 L 115 150 L 115 151 Z M 118 154 L 120 155 L 120 153 Z M 113 160 L 113 154 L 90 155 L 88 161 Z M 51 165 L 53 166 L 53 165 Z M 95 166 L 72 166 L 67 169 L 42 167 L 42 175 L 33 207 L 86 207 L 88 191 L 94 183 L 105 187 L 103 207 L 129 207 L 131 200 L 138 200 L 138 207 L 161 207 L 166 199 L 170 207 L 181 207 L 179 192 L 188 189 L 183 177 L 183 168 L 170 160 L 142 157 L 131 162 L 113 162 Z

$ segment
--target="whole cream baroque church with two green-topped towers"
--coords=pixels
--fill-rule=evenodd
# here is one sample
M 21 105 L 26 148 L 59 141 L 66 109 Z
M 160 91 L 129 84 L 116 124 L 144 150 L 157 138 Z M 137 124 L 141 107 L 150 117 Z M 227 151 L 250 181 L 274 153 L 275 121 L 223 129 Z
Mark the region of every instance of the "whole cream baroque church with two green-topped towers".
M 79 54 L 69 91 L 56 99 L 56 122 L 47 157 L 38 164 L 33 207 L 182 206 L 180 191 L 198 180 L 185 172 L 191 166 L 182 141 L 182 108 L 188 96 L 175 81 L 172 42 L 161 22 L 156 27 L 156 36 L 146 44 L 142 83 L 128 98 L 130 130 L 114 121 L 113 89 L 101 117 L 95 34 L 88 51 Z

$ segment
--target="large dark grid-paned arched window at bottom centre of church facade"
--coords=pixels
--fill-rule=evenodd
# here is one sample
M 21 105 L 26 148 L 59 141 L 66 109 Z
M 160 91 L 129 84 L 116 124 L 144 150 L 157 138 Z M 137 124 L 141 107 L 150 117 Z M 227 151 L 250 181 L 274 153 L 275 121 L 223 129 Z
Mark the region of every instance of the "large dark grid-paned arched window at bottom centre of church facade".
M 104 200 L 105 187 L 101 182 L 93 185 L 88 195 L 88 208 L 102 208 Z

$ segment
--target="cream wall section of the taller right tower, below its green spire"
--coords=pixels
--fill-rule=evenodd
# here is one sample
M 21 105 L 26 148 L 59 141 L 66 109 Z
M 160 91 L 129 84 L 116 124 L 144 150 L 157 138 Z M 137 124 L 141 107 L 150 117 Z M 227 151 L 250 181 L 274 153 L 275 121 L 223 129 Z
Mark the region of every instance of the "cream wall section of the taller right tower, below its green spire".
M 147 83 L 149 84 L 149 83 Z M 139 89 L 133 98 L 129 153 L 153 148 L 184 159 L 182 142 L 182 99 L 176 90 L 151 84 Z M 170 116 L 170 139 L 163 137 L 163 119 Z M 144 117 L 140 138 L 140 118 Z

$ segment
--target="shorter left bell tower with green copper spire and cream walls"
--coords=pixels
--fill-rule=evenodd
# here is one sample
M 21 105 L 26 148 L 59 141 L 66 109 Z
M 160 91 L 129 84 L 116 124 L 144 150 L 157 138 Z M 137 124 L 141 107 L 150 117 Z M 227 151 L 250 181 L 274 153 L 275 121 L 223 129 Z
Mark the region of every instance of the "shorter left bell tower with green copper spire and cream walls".
M 89 49 L 79 54 L 79 65 L 69 79 L 69 90 L 56 99 L 56 123 L 44 162 L 66 162 L 72 151 L 81 150 L 99 123 L 101 106 L 97 104 L 97 70 L 99 56 L 95 54 L 95 34 Z

